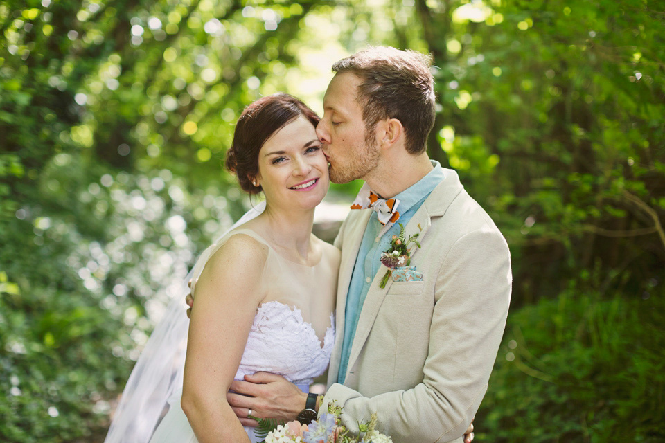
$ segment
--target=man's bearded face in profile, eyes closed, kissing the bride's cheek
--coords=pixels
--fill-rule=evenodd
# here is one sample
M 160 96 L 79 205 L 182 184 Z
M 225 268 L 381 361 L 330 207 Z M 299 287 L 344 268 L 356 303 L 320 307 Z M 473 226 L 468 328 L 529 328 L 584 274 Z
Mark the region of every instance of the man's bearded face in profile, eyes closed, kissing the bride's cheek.
M 323 96 L 323 118 L 317 125 L 317 136 L 334 183 L 363 179 L 378 163 L 374 134 L 366 137 L 362 107 L 356 98 L 360 82 L 353 73 L 336 74 Z

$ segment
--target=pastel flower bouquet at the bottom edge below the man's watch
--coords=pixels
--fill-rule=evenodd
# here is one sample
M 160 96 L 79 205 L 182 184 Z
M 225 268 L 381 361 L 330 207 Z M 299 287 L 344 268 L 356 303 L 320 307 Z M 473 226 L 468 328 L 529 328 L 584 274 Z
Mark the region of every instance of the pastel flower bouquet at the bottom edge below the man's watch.
M 319 419 L 310 424 L 288 422 L 276 426 L 267 432 L 265 443 L 392 443 L 387 435 L 376 430 L 377 413 L 373 413 L 369 423 L 360 423 L 360 435 L 351 435 L 345 426 L 340 424 L 339 415 L 342 407 L 333 401 L 328 405 L 328 413 L 321 414 Z M 259 427 L 261 427 L 261 423 Z M 264 423 L 265 424 L 265 423 Z M 264 431 L 265 432 L 265 431 Z

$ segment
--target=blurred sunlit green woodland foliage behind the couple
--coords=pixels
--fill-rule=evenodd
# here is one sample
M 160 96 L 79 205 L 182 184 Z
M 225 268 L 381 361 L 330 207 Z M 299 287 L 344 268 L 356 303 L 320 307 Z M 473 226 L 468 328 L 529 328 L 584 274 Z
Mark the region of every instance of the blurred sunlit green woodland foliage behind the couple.
M 320 111 L 332 62 L 389 44 L 433 55 L 429 154 L 511 246 L 477 440 L 665 441 L 664 29 L 647 0 L 0 0 L 0 440 L 103 440 L 249 204 L 242 108 Z

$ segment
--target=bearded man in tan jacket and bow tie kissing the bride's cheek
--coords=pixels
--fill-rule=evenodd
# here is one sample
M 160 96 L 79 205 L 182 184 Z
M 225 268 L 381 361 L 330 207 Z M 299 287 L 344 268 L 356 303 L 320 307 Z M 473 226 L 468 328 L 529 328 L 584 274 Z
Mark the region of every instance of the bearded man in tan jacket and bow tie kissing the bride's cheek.
M 429 60 L 378 47 L 332 71 L 317 134 L 330 179 L 364 180 L 354 208 L 369 209 L 352 210 L 335 239 L 342 250 L 337 339 L 328 391 L 316 407 L 326 411 L 336 401 L 355 433 L 378 412 L 378 429 L 396 443 L 462 442 L 504 332 L 508 245 L 456 172 L 425 152 L 435 113 Z M 381 253 L 399 224 L 405 238 L 418 234 L 410 264 L 421 280 L 381 287 Z M 231 389 L 251 397 L 228 395 L 243 424 L 253 422 L 243 418 L 250 408 L 283 419 L 305 408 L 306 395 L 278 375 L 246 380 Z

